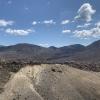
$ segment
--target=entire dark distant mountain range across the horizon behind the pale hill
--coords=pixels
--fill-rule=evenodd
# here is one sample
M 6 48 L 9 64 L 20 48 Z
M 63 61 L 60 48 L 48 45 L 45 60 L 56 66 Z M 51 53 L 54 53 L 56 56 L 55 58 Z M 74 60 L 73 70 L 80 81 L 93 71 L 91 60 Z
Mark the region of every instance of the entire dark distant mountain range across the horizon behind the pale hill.
M 16 44 L 0 46 L 0 60 L 40 63 L 99 63 L 100 40 L 83 46 L 80 44 L 64 47 L 41 47 L 33 44 Z

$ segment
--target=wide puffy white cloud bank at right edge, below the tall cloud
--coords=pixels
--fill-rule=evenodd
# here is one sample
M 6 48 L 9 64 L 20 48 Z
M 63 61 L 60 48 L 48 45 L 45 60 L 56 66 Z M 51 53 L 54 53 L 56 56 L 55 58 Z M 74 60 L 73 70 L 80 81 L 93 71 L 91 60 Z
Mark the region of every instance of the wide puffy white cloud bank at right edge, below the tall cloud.
M 100 37 L 100 23 L 97 23 L 94 28 L 88 30 L 75 30 L 73 33 L 75 34 L 75 36 L 81 38 L 88 38 L 88 37 L 98 38 Z

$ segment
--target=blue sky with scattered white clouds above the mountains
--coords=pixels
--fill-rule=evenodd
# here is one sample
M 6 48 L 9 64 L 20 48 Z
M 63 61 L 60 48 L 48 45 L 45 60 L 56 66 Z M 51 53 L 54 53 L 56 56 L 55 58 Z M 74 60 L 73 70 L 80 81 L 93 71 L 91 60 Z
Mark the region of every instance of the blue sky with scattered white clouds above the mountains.
M 100 39 L 100 0 L 0 0 L 0 45 L 88 45 Z

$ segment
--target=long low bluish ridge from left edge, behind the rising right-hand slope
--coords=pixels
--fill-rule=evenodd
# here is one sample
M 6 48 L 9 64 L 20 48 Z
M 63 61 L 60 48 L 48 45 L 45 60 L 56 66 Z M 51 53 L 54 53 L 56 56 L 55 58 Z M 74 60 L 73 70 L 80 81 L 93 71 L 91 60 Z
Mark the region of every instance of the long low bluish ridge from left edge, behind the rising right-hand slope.
M 25 60 L 34 62 L 47 62 L 51 59 L 69 57 L 76 52 L 83 51 L 84 49 L 85 47 L 79 44 L 64 46 L 61 48 L 45 48 L 33 44 L 23 43 L 0 47 L 0 59 L 1 61 Z

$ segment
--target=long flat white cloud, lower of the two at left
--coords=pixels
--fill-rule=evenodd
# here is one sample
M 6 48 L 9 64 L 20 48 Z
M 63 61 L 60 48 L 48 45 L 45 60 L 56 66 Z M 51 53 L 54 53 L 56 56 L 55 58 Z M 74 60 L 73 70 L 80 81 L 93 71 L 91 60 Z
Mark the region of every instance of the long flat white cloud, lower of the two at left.
M 17 30 L 17 29 L 6 29 L 5 30 L 6 33 L 11 34 L 11 35 L 18 35 L 18 36 L 26 36 L 29 35 L 32 32 L 35 32 L 34 30 L 31 29 L 27 29 L 27 30 Z

